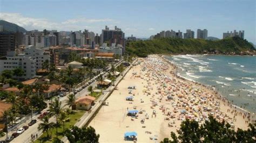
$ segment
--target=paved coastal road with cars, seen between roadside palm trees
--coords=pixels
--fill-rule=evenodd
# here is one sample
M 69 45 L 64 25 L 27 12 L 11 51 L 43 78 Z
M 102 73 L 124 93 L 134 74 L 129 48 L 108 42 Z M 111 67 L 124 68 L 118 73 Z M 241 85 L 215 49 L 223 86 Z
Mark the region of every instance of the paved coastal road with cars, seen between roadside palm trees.
M 118 62 L 115 66 L 119 66 L 121 63 L 122 63 L 122 61 Z M 110 69 L 110 68 L 108 68 L 107 70 L 109 70 L 109 69 Z M 103 74 L 104 74 L 104 76 L 106 76 L 106 75 L 107 75 L 107 72 L 104 72 Z M 92 87 L 96 87 L 96 78 L 97 78 L 97 76 L 93 77 L 93 78 L 90 80 L 90 81 L 95 80 L 94 82 L 92 82 L 92 83 L 90 84 Z M 87 84 L 87 83 L 85 83 L 85 84 Z M 87 86 L 87 87 L 89 87 L 89 86 Z M 83 90 L 81 90 L 80 92 L 78 92 L 78 93 L 76 94 L 76 98 L 77 98 L 77 97 L 80 97 L 80 96 L 88 95 L 90 92 L 87 91 L 87 87 L 84 88 Z M 79 88 L 77 88 L 76 90 L 78 90 L 78 89 L 79 89 Z M 72 92 L 71 92 L 71 94 L 72 94 Z M 62 105 L 61 105 L 62 108 L 65 107 L 65 101 L 66 101 L 67 99 L 68 99 L 67 96 L 59 97 L 59 101 L 62 102 Z M 48 109 L 49 109 L 49 108 L 46 108 L 46 109 L 44 109 L 42 112 L 45 112 L 45 111 L 47 111 Z M 33 119 L 37 119 L 38 117 L 39 117 L 39 115 L 34 116 Z M 51 117 L 51 118 L 49 119 L 49 122 L 55 123 L 55 121 L 56 121 L 55 117 Z M 19 127 L 22 127 L 22 126 L 24 126 L 24 125 L 28 125 L 29 122 L 30 122 L 30 120 L 28 120 L 26 123 L 20 125 Z M 40 120 L 37 120 L 37 123 L 36 123 L 36 124 L 30 126 L 30 127 L 28 128 L 28 130 L 26 130 L 24 133 L 22 133 L 21 135 L 19 135 L 17 138 L 15 138 L 14 140 L 12 140 L 11 142 L 31 142 L 31 134 L 34 134 L 34 135 L 38 134 L 38 138 L 39 138 L 39 136 L 42 134 L 42 131 L 38 131 L 38 130 L 37 130 L 37 127 L 39 126 L 40 123 L 41 123 L 41 121 L 40 121 Z M 11 135 L 13 132 L 15 132 L 15 131 L 12 131 L 11 133 L 8 133 L 8 135 Z M 1 139 L 4 140 L 5 137 L 2 137 Z

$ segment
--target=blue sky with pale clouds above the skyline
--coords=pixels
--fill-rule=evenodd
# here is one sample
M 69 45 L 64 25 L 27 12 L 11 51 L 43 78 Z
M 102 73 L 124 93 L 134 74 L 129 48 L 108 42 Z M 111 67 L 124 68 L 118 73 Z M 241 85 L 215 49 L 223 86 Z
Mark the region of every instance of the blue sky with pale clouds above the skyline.
M 245 30 L 245 39 L 256 44 L 255 0 L 0 0 L 0 19 L 26 30 L 101 33 L 105 25 L 122 28 L 125 36 L 149 38 L 163 30 Z

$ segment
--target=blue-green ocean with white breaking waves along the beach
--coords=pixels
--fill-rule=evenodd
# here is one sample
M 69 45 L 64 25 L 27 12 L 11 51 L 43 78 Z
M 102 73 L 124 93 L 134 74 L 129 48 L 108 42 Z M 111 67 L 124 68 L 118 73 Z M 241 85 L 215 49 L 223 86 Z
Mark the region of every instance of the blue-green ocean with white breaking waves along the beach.
M 187 80 L 214 86 L 220 95 L 256 113 L 256 56 L 173 55 L 165 56 L 179 67 Z

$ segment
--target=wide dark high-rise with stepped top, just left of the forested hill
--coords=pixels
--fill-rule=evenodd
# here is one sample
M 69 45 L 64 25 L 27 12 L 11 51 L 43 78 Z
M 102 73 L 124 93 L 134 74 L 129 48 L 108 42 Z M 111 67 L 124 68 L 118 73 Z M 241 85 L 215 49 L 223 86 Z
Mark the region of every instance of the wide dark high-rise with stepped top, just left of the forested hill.
M 114 27 L 114 30 L 109 30 L 109 27 L 105 26 L 105 30 L 102 30 L 102 34 L 100 35 L 100 44 L 103 44 L 106 41 L 111 41 L 125 47 L 124 37 L 125 33 L 117 26 Z

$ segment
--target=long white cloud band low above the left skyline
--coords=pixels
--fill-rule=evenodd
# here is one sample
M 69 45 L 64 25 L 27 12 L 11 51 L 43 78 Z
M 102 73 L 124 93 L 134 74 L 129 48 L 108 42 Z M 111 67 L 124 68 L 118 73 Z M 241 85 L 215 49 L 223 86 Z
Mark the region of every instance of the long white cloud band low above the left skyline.
M 0 19 L 6 20 L 10 23 L 15 23 L 24 27 L 26 30 L 59 30 L 59 31 L 76 31 L 84 28 L 96 29 L 104 25 L 106 22 L 115 22 L 113 19 L 88 19 L 76 18 L 68 19 L 64 22 L 52 22 L 45 18 L 31 18 L 21 15 L 21 13 L 0 13 Z

